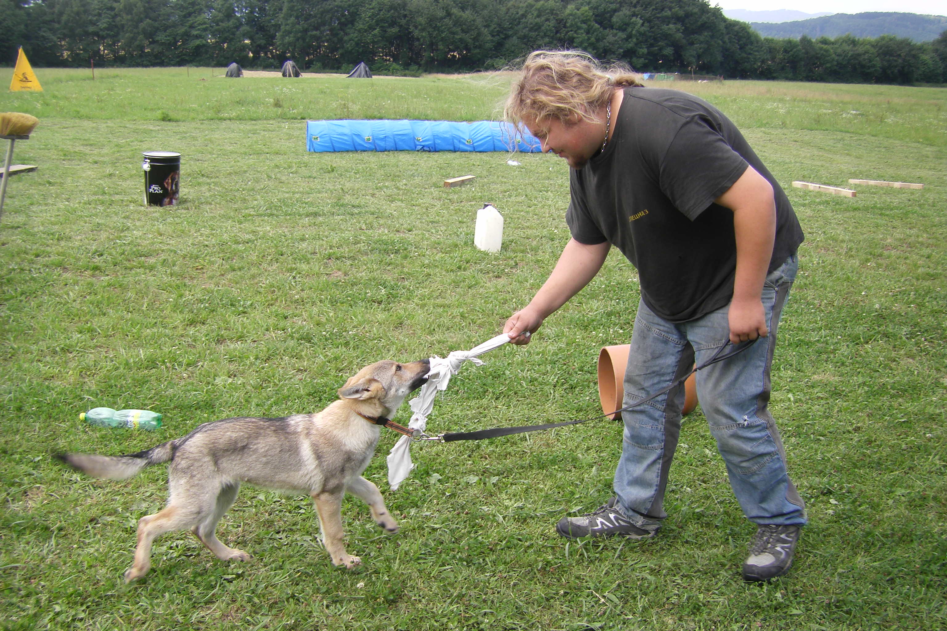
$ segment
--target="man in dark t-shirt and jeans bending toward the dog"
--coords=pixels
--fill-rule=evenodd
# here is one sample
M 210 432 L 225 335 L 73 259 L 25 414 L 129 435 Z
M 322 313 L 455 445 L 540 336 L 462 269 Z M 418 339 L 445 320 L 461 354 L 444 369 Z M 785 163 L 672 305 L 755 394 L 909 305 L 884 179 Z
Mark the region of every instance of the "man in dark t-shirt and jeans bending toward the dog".
M 669 387 L 728 341 L 759 339 L 702 370 L 697 394 L 743 514 L 757 524 L 743 578 L 786 573 L 806 516 L 767 409 L 777 324 L 803 238 L 785 193 L 717 109 L 643 87 L 627 72 L 610 75 L 579 53 L 531 54 L 506 115 L 571 167 L 572 237 L 504 331 L 528 343 L 526 333 L 585 287 L 614 245 L 641 288 L 624 405 Z M 615 497 L 589 515 L 563 517 L 560 535 L 657 532 L 683 403 L 681 384 L 622 413 Z

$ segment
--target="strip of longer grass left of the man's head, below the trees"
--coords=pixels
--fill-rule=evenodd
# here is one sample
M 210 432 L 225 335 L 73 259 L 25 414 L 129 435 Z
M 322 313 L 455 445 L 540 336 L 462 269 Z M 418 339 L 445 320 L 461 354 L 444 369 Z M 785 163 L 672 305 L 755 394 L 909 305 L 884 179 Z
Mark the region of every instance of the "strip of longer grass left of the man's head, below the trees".
M 44 69 L 40 82 L 44 92 L 7 95 L 8 107 L 101 120 L 480 120 L 500 95 L 495 78 L 227 79 L 220 68 L 126 68 L 98 71 L 96 79 L 88 70 Z

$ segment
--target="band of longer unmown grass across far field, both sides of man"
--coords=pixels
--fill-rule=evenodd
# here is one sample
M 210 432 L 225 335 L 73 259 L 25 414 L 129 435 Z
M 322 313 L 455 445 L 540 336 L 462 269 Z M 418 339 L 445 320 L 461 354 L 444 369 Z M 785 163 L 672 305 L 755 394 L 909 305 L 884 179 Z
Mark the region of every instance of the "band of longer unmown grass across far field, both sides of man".
M 460 78 L 339 76 L 225 79 L 220 68 L 43 69 L 43 93 L 0 94 L 0 108 L 40 118 L 299 120 L 499 117 L 509 73 Z M 2 79 L 2 78 L 0 78 Z M 654 82 L 703 96 L 742 129 L 852 133 L 947 147 L 947 91 L 790 81 Z

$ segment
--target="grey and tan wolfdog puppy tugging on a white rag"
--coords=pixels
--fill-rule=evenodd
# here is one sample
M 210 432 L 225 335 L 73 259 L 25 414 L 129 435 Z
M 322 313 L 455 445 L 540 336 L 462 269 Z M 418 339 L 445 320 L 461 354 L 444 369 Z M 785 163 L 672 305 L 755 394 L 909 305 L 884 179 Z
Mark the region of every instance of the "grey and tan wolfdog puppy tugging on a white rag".
M 217 522 L 237 498 L 241 482 L 313 498 L 322 539 L 332 563 L 353 568 L 359 557 L 342 543 L 342 497 L 348 491 L 368 504 L 389 533 L 398 524 L 378 487 L 362 477 L 378 444 L 380 424 L 420 387 L 427 359 L 384 360 L 366 366 L 339 389 L 322 412 L 285 418 L 226 418 L 205 423 L 187 436 L 126 456 L 66 453 L 57 458 L 95 478 L 125 480 L 152 464 L 167 463 L 170 497 L 164 510 L 138 521 L 138 545 L 125 581 L 151 569 L 152 541 L 190 528 L 219 559 L 247 560 L 217 538 Z

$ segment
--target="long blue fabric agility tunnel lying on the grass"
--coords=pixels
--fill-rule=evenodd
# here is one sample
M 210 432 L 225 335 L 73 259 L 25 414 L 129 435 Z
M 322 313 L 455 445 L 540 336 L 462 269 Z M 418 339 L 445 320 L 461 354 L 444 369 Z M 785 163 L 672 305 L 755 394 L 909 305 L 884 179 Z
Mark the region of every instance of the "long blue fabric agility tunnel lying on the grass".
M 310 120 L 306 145 L 310 151 L 541 150 L 535 136 L 490 120 Z

